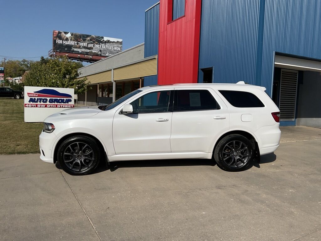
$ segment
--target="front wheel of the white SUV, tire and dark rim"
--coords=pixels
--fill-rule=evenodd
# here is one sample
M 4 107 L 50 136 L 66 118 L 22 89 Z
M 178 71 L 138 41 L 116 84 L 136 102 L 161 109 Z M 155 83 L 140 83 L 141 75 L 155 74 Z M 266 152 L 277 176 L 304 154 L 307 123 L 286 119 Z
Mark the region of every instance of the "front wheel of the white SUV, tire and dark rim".
M 59 147 L 57 162 L 71 175 L 86 175 L 95 170 L 100 161 L 100 150 L 95 139 L 87 136 L 67 138 Z

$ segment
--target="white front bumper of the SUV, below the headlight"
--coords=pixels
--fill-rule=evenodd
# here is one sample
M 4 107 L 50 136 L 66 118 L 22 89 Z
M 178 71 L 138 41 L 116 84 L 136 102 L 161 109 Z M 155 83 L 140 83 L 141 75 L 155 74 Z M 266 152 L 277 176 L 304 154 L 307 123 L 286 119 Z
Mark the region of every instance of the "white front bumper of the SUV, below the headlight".
M 54 133 L 41 132 L 39 135 L 40 159 L 44 162 L 54 163 L 53 148 L 57 140 Z

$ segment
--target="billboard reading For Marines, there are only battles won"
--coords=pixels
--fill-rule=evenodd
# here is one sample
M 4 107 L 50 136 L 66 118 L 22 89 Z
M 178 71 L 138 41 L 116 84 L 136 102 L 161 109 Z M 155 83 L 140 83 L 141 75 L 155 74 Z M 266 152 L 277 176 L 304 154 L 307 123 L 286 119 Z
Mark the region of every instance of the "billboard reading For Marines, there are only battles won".
M 103 36 L 53 31 L 53 51 L 109 57 L 123 49 L 123 40 Z

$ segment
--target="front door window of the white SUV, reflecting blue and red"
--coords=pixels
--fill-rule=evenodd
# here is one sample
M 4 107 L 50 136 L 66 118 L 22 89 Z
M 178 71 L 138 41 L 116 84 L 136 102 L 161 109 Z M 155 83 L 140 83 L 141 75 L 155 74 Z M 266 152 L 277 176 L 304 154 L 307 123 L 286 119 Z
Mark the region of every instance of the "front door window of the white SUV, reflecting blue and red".
M 133 106 L 134 113 L 158 113 L 169 112 L 170 90 L 157 91 L 143 95 L 142 97 L 130 103 Z

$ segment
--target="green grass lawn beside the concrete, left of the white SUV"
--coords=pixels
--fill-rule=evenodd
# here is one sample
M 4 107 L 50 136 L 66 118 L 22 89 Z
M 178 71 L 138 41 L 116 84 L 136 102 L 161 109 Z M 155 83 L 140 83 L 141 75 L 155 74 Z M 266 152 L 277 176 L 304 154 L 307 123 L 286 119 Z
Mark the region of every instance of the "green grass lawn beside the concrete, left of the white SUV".
M 0 154 L 39 153 L 43 123 L 23 118 L 23 99 L 0 99 Z

